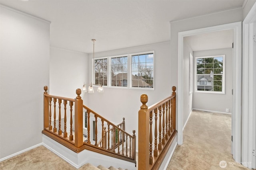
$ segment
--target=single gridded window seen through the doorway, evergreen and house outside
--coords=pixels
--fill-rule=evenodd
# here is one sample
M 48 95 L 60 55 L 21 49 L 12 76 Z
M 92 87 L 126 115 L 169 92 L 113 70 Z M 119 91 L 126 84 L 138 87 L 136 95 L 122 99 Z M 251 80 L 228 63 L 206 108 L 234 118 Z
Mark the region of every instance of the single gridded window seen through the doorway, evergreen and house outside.
M 224 94 L 225 55 L 195 57 L 196 92 Z

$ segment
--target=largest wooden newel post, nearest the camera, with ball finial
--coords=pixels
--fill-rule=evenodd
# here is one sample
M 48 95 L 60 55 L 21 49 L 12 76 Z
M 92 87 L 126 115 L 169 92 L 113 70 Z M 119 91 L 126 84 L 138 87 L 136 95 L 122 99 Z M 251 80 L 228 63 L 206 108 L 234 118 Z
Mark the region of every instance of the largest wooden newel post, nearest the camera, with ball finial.
M 140 110 L 138 112 L 138 169 L 149 169 L 149 113 L 148 96 L 142 94 L 140 96 Z

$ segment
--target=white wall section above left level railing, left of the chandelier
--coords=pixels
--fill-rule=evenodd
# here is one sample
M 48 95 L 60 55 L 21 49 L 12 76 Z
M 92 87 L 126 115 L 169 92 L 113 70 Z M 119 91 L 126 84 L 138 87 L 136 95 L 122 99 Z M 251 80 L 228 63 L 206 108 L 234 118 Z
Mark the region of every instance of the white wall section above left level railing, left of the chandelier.
M 50 47 L 50 94 L 76 98 L 76 89 L 82 90 L 87 75 L 88 54 Z

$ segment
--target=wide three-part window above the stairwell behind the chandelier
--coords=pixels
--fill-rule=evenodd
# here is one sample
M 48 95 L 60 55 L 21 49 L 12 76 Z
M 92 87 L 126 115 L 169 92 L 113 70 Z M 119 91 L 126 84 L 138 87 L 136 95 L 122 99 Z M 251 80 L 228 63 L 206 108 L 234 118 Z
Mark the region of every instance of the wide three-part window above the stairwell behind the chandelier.
M 154 90 L 154 51 L 94 59 L 94 84 Z

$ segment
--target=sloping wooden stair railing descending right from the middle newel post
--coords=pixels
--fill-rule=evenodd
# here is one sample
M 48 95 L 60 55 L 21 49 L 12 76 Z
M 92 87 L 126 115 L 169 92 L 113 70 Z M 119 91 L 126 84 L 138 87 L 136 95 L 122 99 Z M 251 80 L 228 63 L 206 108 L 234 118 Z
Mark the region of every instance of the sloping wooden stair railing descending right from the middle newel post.
M 136 135 L 135 130 L 132 131 L 133 135 L 128 134 L 124 131 L 124 118 L 123 122 L 114 125 L 114 123 L 108 121 L 104 117 L 98 115 L 92 109 L 87 106 L 83 106 L 87 111 L 87 122 L 90 122 L 90 118 L 94 115 L 95 123 L 97 124 L 98 119 L 101 122 L 101 139 L 98 141 L 98 128 L 95 129 L 95 141 L 93 142 L 95 146 L 99 146 L 109 153 L 121 155 L 124 160 L 130 159 L 130 162 L 136 163 Z M 104 126 L 106 125 L 106 127 Z M 98 126 L 95 126 L 98 127 Z M 88 123 L 88 135 L 87 141 L 84 143 L 86 145 L 92 145 L 91 134 L 90 134 L 90 125 Z

